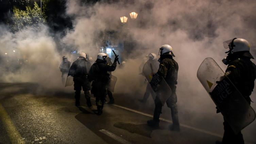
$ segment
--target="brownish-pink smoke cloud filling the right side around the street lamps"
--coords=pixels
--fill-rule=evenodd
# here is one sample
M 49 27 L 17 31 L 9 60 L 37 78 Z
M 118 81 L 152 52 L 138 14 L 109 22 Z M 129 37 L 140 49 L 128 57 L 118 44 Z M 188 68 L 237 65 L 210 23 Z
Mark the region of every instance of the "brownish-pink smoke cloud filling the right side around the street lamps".
M 176 55 L 174 59 L 179 64 L 177 96 L 180 113 L 183 113 L 180 119 L 190 119 L 192 124 L 218 119 L 219 129 L 222 129 L 222 117 L 215 114 L 214 103 L 197 79 L 197 69 L 204 58 L 212 57 L 225 70 L 226 66 L 221 62 L 226 56 L 222 44 L 224 40 L 244 38 L 251 46 L 256 45 L 255 6 L 252 0 L 140 0 L 113 4 L 103 1 L 93 6 L 69 0 L 67 13 L 75 18 L 74 30 L 67 33 L 65 40 L 93 54 L 98 53 L 92 49 L 97 48 L 95 35 L 100 31 L 117 31 L 117 42 L 132 43 L 133 47 L 128 45 L 124 48 L 125 67 L 113 72 L 118 77 L 116 93 L 133 93 L 135 96 L 132 98 L 142 98 L 146 89 L 144 79 L 139 75 L 143 57 L 152 52 L 157 54 L 161 45 L 170 44 Z M 138 13 L 137 19 L 129 18 L 127 23 L 122 24 L 119 18 L 129 17 L 132 11 Z M 252 47 L 251 52 L 255 56 L 254 49 Z M 251 96 L 253 101 L 256 100 L 254 95 Z M 255 124 L 245 128 L 245 131 Z M 248 133 L 246 135 L 252 137 Z

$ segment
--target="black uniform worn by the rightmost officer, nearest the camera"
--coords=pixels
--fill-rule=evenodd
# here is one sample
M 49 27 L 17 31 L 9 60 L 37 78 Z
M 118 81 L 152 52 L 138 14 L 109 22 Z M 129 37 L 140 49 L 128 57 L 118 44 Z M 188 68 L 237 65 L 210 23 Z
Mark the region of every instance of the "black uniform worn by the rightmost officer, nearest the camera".
M 250 60 L 250 57 L 239 56 L 226 69 L 226 75 L 236 86 L 239 92 L 244 96 L 249 104 L 251 104 L 250 95 L 254 88 L 254 80 L 256 78 L 256 66 Z M 235 134 L 227 121 L 224 119 L 224 136 L 222 144 L 244 144 L 241 131 Z

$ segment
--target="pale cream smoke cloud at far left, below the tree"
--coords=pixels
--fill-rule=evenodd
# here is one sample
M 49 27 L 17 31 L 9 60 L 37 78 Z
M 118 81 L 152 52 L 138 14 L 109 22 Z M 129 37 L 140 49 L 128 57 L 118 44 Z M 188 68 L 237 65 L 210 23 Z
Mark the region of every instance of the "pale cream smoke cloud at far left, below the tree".
M 1 81 L 34 82 L 46 88 L 56 88 L 61 82 L 56 44 L 44 27 L 40 32 L 33 29 L 12 33 L 1 25 Z M 7 52 L 6 55 L 4 53 Z

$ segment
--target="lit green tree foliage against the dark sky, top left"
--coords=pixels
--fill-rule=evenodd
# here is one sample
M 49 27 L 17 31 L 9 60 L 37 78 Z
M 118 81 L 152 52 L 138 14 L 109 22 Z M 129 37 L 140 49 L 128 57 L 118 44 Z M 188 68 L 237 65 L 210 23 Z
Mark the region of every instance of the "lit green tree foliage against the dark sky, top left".
M 14 32 L 21 29 L 37 28 L 40 29 L 41 25 L 41 8 L 34 2 L 33 8 L 26 6 L 26 10 L 19 10 L 16 6 L 13 8 L 12 25 L 11 28 Z M 45 13 L 42 13 L 42 23 L 46 22 Z

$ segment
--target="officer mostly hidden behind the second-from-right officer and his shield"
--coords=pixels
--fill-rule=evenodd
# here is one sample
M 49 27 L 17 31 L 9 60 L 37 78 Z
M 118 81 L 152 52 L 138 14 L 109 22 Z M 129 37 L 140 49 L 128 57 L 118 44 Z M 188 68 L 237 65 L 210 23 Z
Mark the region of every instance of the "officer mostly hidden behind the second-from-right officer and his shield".
M 147 55 L 147 57 L 149 57 L 148 62 L 150 62 L 150 64 L 155 65 L 154 67 L 158 67 L 159 66 L 159 62 L 157 61 L 156 54 L 150 53 L 150 54 Z M 155 71 L 155 72 L 152 71 L 153 74 L 155 74 L 156 72 L 157 71 Z M 151 91 L 151 88 L 150 88 L 150 84 L 148 83 L 147 88 L 146 88 L 146 92 L 144 93 L 144 96 L 143 96 L 143 99 L 139 100 L 139 102 L 146 103 L 148 98 L 149 98 L 150 92 L 152 92 L 152 91 Z M 151 93 L 151 95 L 154 96 L 154 94 L 152 94 L 152 93 Z M 153 97 L 153 100 L 155 100 L 155 97 Z

